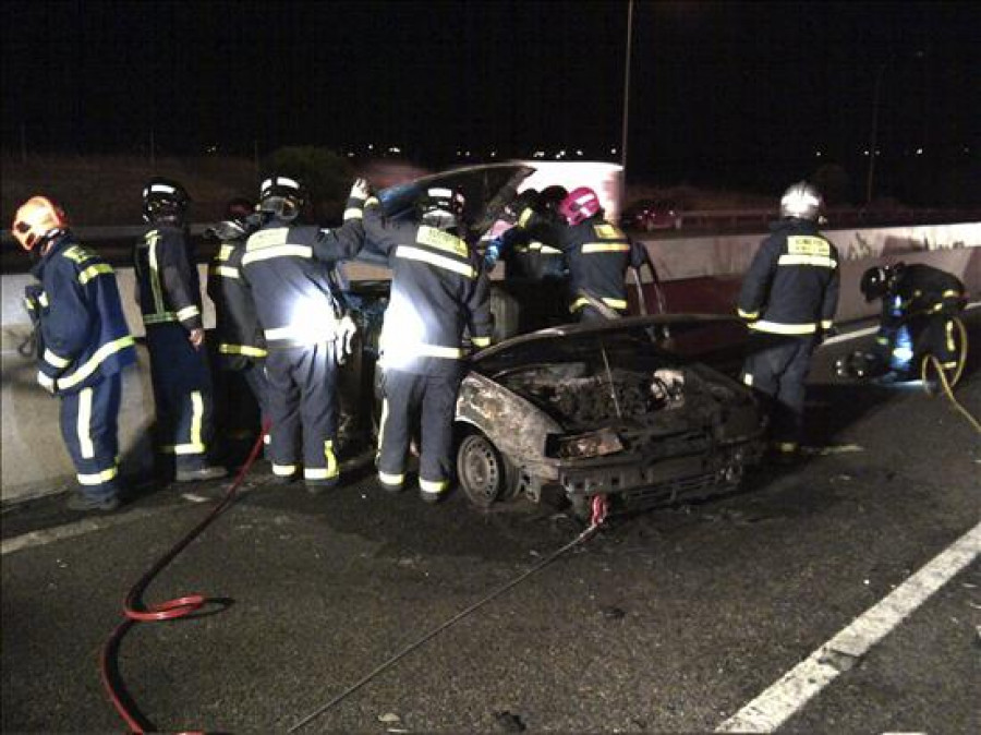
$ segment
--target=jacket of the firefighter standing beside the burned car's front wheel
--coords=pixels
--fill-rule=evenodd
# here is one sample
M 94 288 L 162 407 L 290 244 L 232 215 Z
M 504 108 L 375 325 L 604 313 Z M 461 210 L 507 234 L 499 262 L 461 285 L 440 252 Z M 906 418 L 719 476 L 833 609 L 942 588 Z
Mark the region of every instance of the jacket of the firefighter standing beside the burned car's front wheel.
M 491 344 L 489 280 L 463 240 L 428 225 L 389 220 L 375 198 L 365 205 L 364 229 L 392 272 L 380 339 L 386 368 L 456 373 L 465 354 L 464 328 L 475 347 Z

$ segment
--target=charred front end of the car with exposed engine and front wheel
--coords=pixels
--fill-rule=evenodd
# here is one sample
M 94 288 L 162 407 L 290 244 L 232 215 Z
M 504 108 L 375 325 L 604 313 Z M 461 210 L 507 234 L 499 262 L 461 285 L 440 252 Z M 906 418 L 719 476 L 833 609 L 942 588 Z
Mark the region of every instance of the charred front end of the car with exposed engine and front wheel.
M 555 486 L 585 516 L 595 495 L 626 509 L 738 486 L 762 456 L 760 405 L 731 377 L 665 348 L 725 318 L 567 325 L 474 356 L 457 401 L 468 498 L 537 502 Z

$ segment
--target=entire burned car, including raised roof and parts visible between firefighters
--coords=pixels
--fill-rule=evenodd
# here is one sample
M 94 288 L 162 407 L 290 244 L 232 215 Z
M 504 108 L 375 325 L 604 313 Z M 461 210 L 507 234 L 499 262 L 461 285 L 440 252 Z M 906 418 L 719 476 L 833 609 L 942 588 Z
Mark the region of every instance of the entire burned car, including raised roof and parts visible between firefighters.
M 409 216 L 420 191 L 451 181 L 468 189 L 475 207 L 474 240 L 531 171 L 510 165 L 460 169 L 386 190 L 379 198 L 389 216 Z M 365 251 L 362 260 L 380 263 L 370 243 Z M 748 387 L 708 365 L 720 362 L 720 330 L 742 328 L 737 320 L 657 314 L 566 324 L 565 303 L 543 312 L 541 289 L 514 286 L 494 284 L 497 344 L 471 356 L 457 402 L 458 480 L 472 503 L 486 508 L 558 494 L 588 517 L 596 496 L 629 509 L 739 485 L 762 456 L 765 415 Z M 377 424 L 380 413 L 376 361 L 388 287 L 362 280 L 348 291 L 363 345 L 344 371 L 348 401 L 360 395 L 363 409 L 352 407 L 348 418 L 349 429 L 361 432 L 367 429 L 363 417 L 375 415 Z M 525 303 L 529 292 L 535 303 Z M 516 316 L 525 309 L 533 320 Z M 529 328 L 534 330 L 522 334 Z

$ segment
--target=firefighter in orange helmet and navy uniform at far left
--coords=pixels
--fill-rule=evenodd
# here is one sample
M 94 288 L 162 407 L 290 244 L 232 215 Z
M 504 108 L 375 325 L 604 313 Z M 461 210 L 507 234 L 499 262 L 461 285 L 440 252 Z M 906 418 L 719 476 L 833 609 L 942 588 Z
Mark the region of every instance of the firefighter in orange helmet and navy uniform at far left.
M 61 435 L 81 493 L 73 510 L 119 507 L 118 419 L 122 370 L 136 362 L 112 268 L 78 244 L 64 212 L 45 196 L 19 209 L 13 236 L 37 261 L 27 290 L 38 347 L 37 381 L 61 398 Z

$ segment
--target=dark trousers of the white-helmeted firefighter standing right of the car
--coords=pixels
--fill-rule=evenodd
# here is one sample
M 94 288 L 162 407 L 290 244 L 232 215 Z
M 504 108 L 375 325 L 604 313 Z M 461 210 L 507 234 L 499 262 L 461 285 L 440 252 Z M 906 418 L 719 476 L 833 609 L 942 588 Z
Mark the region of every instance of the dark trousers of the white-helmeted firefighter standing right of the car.
M 770 410 L 771 439 L 797 448 L 803 433 L 804 381 L 818 346 L 813 335 L 753 335 L 742 366 L 742 382 L 759 391 Z

